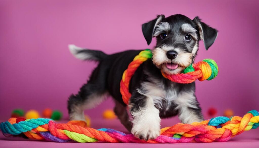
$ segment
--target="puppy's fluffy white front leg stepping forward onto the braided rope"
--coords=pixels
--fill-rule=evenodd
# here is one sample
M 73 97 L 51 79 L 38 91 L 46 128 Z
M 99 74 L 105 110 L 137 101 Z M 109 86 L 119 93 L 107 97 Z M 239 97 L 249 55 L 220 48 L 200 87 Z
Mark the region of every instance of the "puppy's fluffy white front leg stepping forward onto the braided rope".
M 140 139 L 155 139 L 160 135 L 159 110 L 155 107 L 153 98 L 135 91 L 130 99 L 132 119 L 132 134 Z

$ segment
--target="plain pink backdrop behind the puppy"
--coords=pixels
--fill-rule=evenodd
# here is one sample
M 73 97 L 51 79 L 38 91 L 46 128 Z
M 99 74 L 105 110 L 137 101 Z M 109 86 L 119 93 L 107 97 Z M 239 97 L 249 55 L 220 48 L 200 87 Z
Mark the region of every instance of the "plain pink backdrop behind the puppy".
M 93 62 L 75 59 L 67 45 L 115 53 L 152 48 L 141 24 L 181 13 L 219 30 L 206 51 L 202 41 L 196 61 L 212 58 L 219 66 L 215 80 L 196 82 L 203 112 L 231 108 L 236 115 L 258 109 L 259 1 L 0 1 L 0 117 L 15 108 L 62 110 L 85 83 Z M 101 117 L 113 107 L 111 99 L 93 110 Z

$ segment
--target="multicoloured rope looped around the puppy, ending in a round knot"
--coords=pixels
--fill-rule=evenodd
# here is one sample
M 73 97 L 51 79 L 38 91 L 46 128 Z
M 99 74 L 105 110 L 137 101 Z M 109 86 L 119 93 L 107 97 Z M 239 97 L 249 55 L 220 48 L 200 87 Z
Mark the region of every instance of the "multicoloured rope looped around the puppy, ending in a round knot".
M 120 93 L 125 104 L 129 104 L 131 93 L 129 91 L 130 80 L 140 64 L 146 60 L 152 58 L 152 52 L 150 49 L 141 51 L 132 62 L 128 65 L 128 68 L 124 71 L 122 80 L 120 81 Z M 218 75 L 218 65 L 212 59 L 204 59 L 196 64 L 191 64 L 183 70 L 183 73 L 169 75 L 162 73 L 162 75 L 176 83 L 188 84 L 194 82 L 196 79 L 199 81 L 212 80 Z

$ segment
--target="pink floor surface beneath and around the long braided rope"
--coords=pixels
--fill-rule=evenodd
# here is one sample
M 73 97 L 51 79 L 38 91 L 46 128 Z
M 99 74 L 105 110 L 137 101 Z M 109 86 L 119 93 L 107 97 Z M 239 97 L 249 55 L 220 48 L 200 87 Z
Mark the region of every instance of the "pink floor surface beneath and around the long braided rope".
M 3 122 L 4 120 L 1 120 Z M 66 122 L 66 121 L 62 121 Z M 125 133 L 128 133 L 126 129 L 120 124 L 118 119 L 115 120 L 103 120 L 103 119 L 92 119 L 91 121 L 92 128 L 112 128 Z M 161 126 L 167 127 L 172 126 L 177 123 L 177 118 L 164 119 L 162 120 Z M 54 143 L 54 142 L 45 142 L 37 140 L 29 140 L 18 137 L 4 137 L 0 133 L 0 147 L 26 147 L 26 148 L 51 148 L 51 147 L 62 147 L 62 148 L 80 148 L 80 147 L 242 147 L 242 148 L 259 148 L 259 129 L 252 129 L 250 131 L 245 131 L 240 135 L 230 139 L 228 142 L 223 143 L 182 143 L 182 144 L 124 144 L 124 143 Z

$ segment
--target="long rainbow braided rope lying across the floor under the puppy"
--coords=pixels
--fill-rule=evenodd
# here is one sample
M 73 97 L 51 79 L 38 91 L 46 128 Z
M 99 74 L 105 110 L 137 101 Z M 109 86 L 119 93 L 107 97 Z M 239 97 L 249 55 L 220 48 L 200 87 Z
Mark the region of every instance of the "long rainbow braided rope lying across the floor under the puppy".
M 161 129 L 161 134 L 154 140 L 140 140 L 132 134 L 125 134 L 114 129 L 93 129 L 86 127 L 84 121 L 69 121 L 57 124 L 51 119 L 10 118 L 0 124 L 3 134 L 20 135 L 52 142 L 108 142 L 108 143 L 189 143 L 189 142 L 226 142 L 243 131 L 259 126 L 258 111 L 251 110 L 243 117 L 215 117 L 192 124 L 178 123 Z

